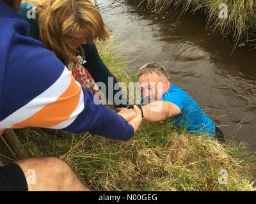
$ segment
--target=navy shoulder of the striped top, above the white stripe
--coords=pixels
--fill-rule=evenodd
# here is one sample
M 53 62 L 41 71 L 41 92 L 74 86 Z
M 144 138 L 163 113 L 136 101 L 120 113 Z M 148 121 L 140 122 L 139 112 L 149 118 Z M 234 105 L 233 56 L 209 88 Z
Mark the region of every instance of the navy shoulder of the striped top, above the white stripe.
M 4 117 L 45 93 L 54 84 L 58 84 L 56 89 L 60 89 L 63 84 L 70 83 L 71 73 L 65 71 L 65 65 L 40 41 L 30 38 L 28 33 L 13 33 L 8 45 L 0 47 L 6 50 L 5 55 L 0 57 L 4 61 L 0 64 L 3 70 L 0 85 L 3 87 Z

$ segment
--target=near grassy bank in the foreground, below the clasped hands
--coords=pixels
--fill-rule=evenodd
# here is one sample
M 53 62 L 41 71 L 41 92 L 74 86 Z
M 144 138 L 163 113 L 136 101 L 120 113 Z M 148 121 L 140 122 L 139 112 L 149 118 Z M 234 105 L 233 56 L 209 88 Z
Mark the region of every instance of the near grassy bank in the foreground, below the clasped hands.
M 111 45 L 98 47 L 111 71 L 128 80 Z M 244 144 L 220 145 L 168 122 L 143 122 L 129 142 L 42 129 L 20 135 L 31 157 L 60 157 L 95 191 L 255 191 L 255 166 L 241 159 L 252 156 Z M 227 185 L 218 182 L 221 169 L 228 171 Z

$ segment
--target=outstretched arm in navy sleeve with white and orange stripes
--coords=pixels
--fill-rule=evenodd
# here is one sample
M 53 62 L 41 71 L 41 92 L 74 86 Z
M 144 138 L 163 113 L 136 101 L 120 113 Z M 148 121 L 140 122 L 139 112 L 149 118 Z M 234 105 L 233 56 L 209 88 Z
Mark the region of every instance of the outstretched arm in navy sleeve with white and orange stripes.
M 1 50 L 8 52 L 3 51 L 5 63 L 0 64 L 4 73 L 0 73 L 0 131 L 40 127 L 72 133 L 89 131 L 117 140 L 129 140 L 134 135 L 138 117 L 128 123 L 122 114 L 97 105 L 92 92 L 74 80 L 56 55 L 28 37 L 26 22 L 14 23 L 18 28 L 9 32 L 10 44 L 1 45 Z M 127 120 L 131 118 L 128 115 Z

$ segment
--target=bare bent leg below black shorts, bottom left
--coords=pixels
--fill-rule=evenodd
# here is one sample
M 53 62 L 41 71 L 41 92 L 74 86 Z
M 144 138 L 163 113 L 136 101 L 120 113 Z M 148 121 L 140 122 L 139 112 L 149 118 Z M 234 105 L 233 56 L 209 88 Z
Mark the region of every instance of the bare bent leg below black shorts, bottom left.
M 60 159 L 24 159 L 16 163 L 27 180 L 31 181 L 31 177 L 35 176 L 35 180 L 32 179 L 28 184 L 29 191 L 90 191 Z

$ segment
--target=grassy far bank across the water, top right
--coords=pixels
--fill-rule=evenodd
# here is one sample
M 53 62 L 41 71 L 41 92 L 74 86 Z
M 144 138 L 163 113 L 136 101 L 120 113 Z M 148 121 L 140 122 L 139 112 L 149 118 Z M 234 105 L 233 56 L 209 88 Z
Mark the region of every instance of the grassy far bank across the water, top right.
M 256 2 L 254 0 L 136 0 L 145 3 L 148 9 L 176 10 L 179 15 L 186 12 L 203 13 L 207 27 L 216 34 L 230 36 L 237 45 L 256 44 Z M 228 18 L 220 18 L 220 4 L 227 4 Z

